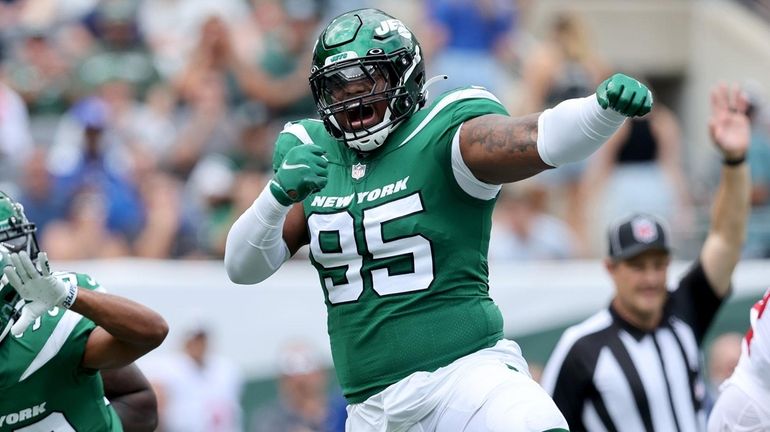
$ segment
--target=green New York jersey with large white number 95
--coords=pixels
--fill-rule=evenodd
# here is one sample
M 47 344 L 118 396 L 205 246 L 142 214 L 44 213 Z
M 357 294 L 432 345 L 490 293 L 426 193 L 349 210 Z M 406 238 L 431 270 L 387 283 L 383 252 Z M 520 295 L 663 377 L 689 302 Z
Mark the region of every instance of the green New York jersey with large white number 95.
M 446 93 L 367 155 L 316 120 L 289 123 L 279 135 L 276 169 L 293 146 L 313 142 L 327 152 L 328 183 L 303 206 L 334 365 L 351 403 L 503 337 L 488 295 L 496 198 L 466 193 L 451 162 L 458 127 L 485 114 L 507 112 L 483 89 Z

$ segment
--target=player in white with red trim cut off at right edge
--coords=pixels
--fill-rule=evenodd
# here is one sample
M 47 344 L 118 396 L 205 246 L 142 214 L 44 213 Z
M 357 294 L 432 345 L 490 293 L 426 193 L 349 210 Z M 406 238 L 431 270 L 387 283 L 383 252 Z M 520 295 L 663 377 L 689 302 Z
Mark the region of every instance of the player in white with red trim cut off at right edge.
M 749 313 L 738 366 L 720 388 L 709 432 L 770 430 L 770 289 Z

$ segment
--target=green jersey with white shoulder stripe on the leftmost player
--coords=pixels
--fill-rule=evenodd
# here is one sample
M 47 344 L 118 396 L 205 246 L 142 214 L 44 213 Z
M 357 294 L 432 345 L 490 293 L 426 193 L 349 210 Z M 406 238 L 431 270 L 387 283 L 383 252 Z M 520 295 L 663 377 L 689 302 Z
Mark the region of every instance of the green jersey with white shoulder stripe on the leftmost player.
M 101 289 L 79 273 L 56 273 Z M 19 337 L 0 341 L 0 432 L 120 432 L 98 371 L 80 367 L 95 324 L 54 307 Z

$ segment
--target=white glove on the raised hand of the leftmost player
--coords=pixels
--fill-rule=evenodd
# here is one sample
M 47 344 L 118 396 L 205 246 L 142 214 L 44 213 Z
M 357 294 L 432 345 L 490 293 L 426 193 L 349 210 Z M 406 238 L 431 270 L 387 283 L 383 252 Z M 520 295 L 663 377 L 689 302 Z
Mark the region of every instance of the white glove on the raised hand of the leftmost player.
M 40 269 L 35 267 L 26 251 L 10 254 L 6 262 L 10 262 L 10 265 L 3 269 L 8 282 L 28 302 L 21 309 L 19 319 L 11 327 L 14 336 L 24 333 L 30 324 L 54 306 L 69 309 L 75 303 L 77 285 L 66 284 L 56 276 L 51 276 L 48 255 L 45 252 L 38 254 Z

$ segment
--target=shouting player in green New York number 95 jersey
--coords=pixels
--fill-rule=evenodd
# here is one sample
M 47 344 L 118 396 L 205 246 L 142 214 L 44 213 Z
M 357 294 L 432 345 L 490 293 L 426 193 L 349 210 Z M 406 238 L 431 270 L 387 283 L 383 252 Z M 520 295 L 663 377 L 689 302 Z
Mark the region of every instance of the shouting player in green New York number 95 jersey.
M 310 75 L 321 120 L 279 135 L 274 178 L 228 235 L 228 275 L 260 282 L 310 245 L 348 430 L 566 430 L 503 338 L 492 209 L 502 183 L 584 159 L 652 95 L 617 74 L 512 118 L 479 87 L 425 106 L 430 82 L 401 21 L 375 9 L 332 20 Z

